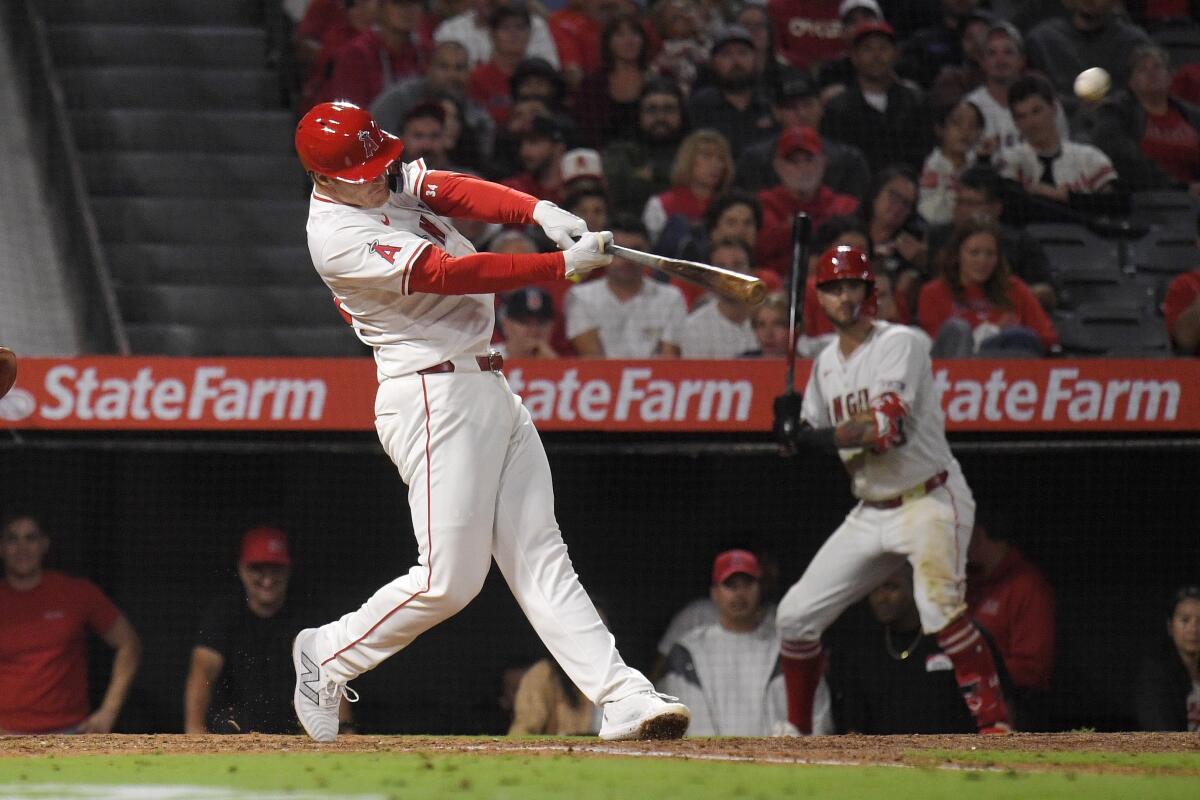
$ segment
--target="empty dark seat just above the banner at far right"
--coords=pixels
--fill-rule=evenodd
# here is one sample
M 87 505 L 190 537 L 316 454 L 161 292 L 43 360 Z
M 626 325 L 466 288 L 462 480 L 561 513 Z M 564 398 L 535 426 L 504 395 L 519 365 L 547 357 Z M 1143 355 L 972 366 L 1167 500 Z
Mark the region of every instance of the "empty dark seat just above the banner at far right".
M 1054 314 L 1064 355 L 1130 359 L 1168 357 L 1171 344 L 1162 318 L 1133 305 L 1087 305 Z

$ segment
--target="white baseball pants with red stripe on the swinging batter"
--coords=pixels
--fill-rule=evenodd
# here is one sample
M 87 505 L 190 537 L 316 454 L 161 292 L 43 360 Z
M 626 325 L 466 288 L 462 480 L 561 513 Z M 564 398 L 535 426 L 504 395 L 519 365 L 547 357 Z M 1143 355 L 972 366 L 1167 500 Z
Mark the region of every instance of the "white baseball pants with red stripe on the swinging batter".
M 379 386 L 376 428 L 408 485 L 416 566 L 319 628 L 324 668 L 346 682 L 378 666 L 466 607 L 494 558 L 541 640 L 590 700 L 652 690 L 617 652 L 571 566 L 529 411 L 474 356 L 454 363 L 455 372 Z

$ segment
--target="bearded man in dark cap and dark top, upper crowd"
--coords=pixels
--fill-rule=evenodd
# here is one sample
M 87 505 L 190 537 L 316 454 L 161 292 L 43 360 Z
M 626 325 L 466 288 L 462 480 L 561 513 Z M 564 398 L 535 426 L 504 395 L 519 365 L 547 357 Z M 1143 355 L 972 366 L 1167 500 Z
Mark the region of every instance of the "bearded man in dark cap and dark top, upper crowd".
M 722 30 L 713 42 L 709 66 L 715 85 L 691 96 L 689 113 L 724 136 L 737 157 L 743 148 L 769 138 L 774 130 L 750 31 L 740 25 Z

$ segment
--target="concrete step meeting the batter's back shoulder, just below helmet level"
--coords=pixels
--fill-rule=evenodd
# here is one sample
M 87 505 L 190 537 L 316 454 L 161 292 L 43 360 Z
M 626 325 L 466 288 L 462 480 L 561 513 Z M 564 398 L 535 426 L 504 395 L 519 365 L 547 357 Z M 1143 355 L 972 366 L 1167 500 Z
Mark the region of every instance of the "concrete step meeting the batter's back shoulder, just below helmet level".
M 295 246 L 305 241 L 308 203 L 137 197 L 102 199 L 92 211 L 106 243 Z

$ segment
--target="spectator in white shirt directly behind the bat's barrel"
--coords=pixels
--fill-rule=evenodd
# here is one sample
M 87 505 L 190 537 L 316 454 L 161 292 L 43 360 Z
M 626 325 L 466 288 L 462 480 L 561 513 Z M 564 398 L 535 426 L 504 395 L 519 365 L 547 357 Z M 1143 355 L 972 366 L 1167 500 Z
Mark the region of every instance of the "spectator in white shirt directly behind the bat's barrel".
M 750 275 L 750 248 L 736 239 L 713 245 L 708 254 L 713 266 Z M 750 321 L 751 307 L 744 302 L 713 297 L 688 314 L 679 348 L 685 359 L 737 359 L 757 349 L 758 339 Z

